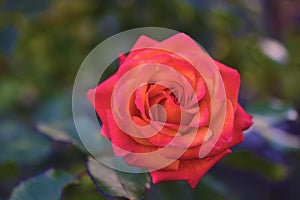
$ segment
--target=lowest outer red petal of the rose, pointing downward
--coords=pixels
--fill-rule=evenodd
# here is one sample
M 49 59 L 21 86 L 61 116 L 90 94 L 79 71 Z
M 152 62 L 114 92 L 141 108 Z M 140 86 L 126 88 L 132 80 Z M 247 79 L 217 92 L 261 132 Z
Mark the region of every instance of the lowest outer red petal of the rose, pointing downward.
M 152 182 L 186 180 L 192 188 L 195 188 L 205 173 L 230 152 L 231 151 L 227 149 L 212 158 L 181 160 L 177 171 L 151 171 Z

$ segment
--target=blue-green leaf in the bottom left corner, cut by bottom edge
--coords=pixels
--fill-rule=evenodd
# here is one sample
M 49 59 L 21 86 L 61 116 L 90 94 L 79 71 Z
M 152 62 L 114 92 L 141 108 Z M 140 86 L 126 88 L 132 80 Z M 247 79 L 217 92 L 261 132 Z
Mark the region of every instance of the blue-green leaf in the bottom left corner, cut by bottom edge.
M 49 170 L 22 182 L 13 190 L 10 200 L 59 200 L 63 188 L 75 180 L 66 172 Z

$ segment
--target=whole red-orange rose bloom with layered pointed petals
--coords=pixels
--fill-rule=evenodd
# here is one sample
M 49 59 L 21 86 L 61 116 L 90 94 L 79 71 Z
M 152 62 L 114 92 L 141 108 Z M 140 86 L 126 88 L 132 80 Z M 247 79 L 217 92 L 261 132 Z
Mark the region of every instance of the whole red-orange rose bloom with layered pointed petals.
M 141 36 L 109 79 L 88 91 L 116 156 L 153 183 L 203 175 L 243 141 L 252 117 L 238 104 L 239 73 L 190 37 Z

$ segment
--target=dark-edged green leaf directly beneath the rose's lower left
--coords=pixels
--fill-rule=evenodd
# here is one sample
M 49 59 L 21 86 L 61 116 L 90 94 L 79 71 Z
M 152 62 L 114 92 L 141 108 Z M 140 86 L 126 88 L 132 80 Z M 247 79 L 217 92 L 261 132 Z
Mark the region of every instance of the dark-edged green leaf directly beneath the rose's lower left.
M 100 185 L 106 197 L 124 197 L 130 200 L 141 199 L 150 188 L 148 174 L 124 173 L 108 168 L 92 157 L 88 159 L 88 171 L 92 180 Z

